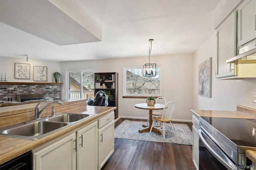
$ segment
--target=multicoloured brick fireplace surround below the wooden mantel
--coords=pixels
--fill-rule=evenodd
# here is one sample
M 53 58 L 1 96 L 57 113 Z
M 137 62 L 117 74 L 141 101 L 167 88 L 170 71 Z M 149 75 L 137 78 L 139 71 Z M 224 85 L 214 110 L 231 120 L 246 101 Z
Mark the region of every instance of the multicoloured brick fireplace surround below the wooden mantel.
M 61 99 L 61 85 L 0 85 L 0 101 L 17 101 L 16 95 L 45 94 L 47 100 Z

